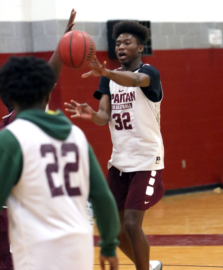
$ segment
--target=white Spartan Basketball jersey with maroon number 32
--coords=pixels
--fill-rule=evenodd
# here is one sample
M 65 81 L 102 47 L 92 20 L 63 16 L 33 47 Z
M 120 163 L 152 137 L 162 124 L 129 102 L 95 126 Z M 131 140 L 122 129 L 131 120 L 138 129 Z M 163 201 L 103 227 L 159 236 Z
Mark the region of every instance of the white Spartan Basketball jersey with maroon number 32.
M 161 100 L 150 101 L 140 87 L 120 86 L 112 80 L 109 87 L 112 103 L 109 128 L 113 151 L 108 168 L 114 166 L 123 172 L 163 169 Z

